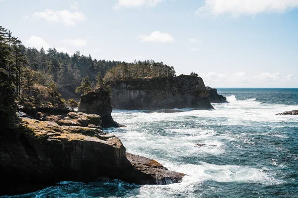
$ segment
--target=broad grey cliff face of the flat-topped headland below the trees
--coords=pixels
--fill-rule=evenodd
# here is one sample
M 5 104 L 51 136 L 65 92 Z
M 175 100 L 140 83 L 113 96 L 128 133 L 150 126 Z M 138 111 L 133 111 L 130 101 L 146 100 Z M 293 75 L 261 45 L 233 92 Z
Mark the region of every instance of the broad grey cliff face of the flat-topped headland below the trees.
M 111 103 L 118 109 L 213 108 L 203 79 L 195 76 L 119 81 L 110 88 Z

